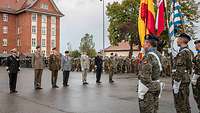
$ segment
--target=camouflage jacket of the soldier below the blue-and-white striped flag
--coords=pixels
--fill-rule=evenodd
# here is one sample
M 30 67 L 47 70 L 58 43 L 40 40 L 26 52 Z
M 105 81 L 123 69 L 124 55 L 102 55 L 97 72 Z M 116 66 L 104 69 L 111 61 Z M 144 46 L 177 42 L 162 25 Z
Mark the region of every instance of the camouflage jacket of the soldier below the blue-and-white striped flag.
M 172 76 L 173 80 L 181 81 L 181 83 L 190 83 L 190 75 L 192 73 L 193 53 L 188 48 L 181 48 L 175 58 L 176 71 Z

